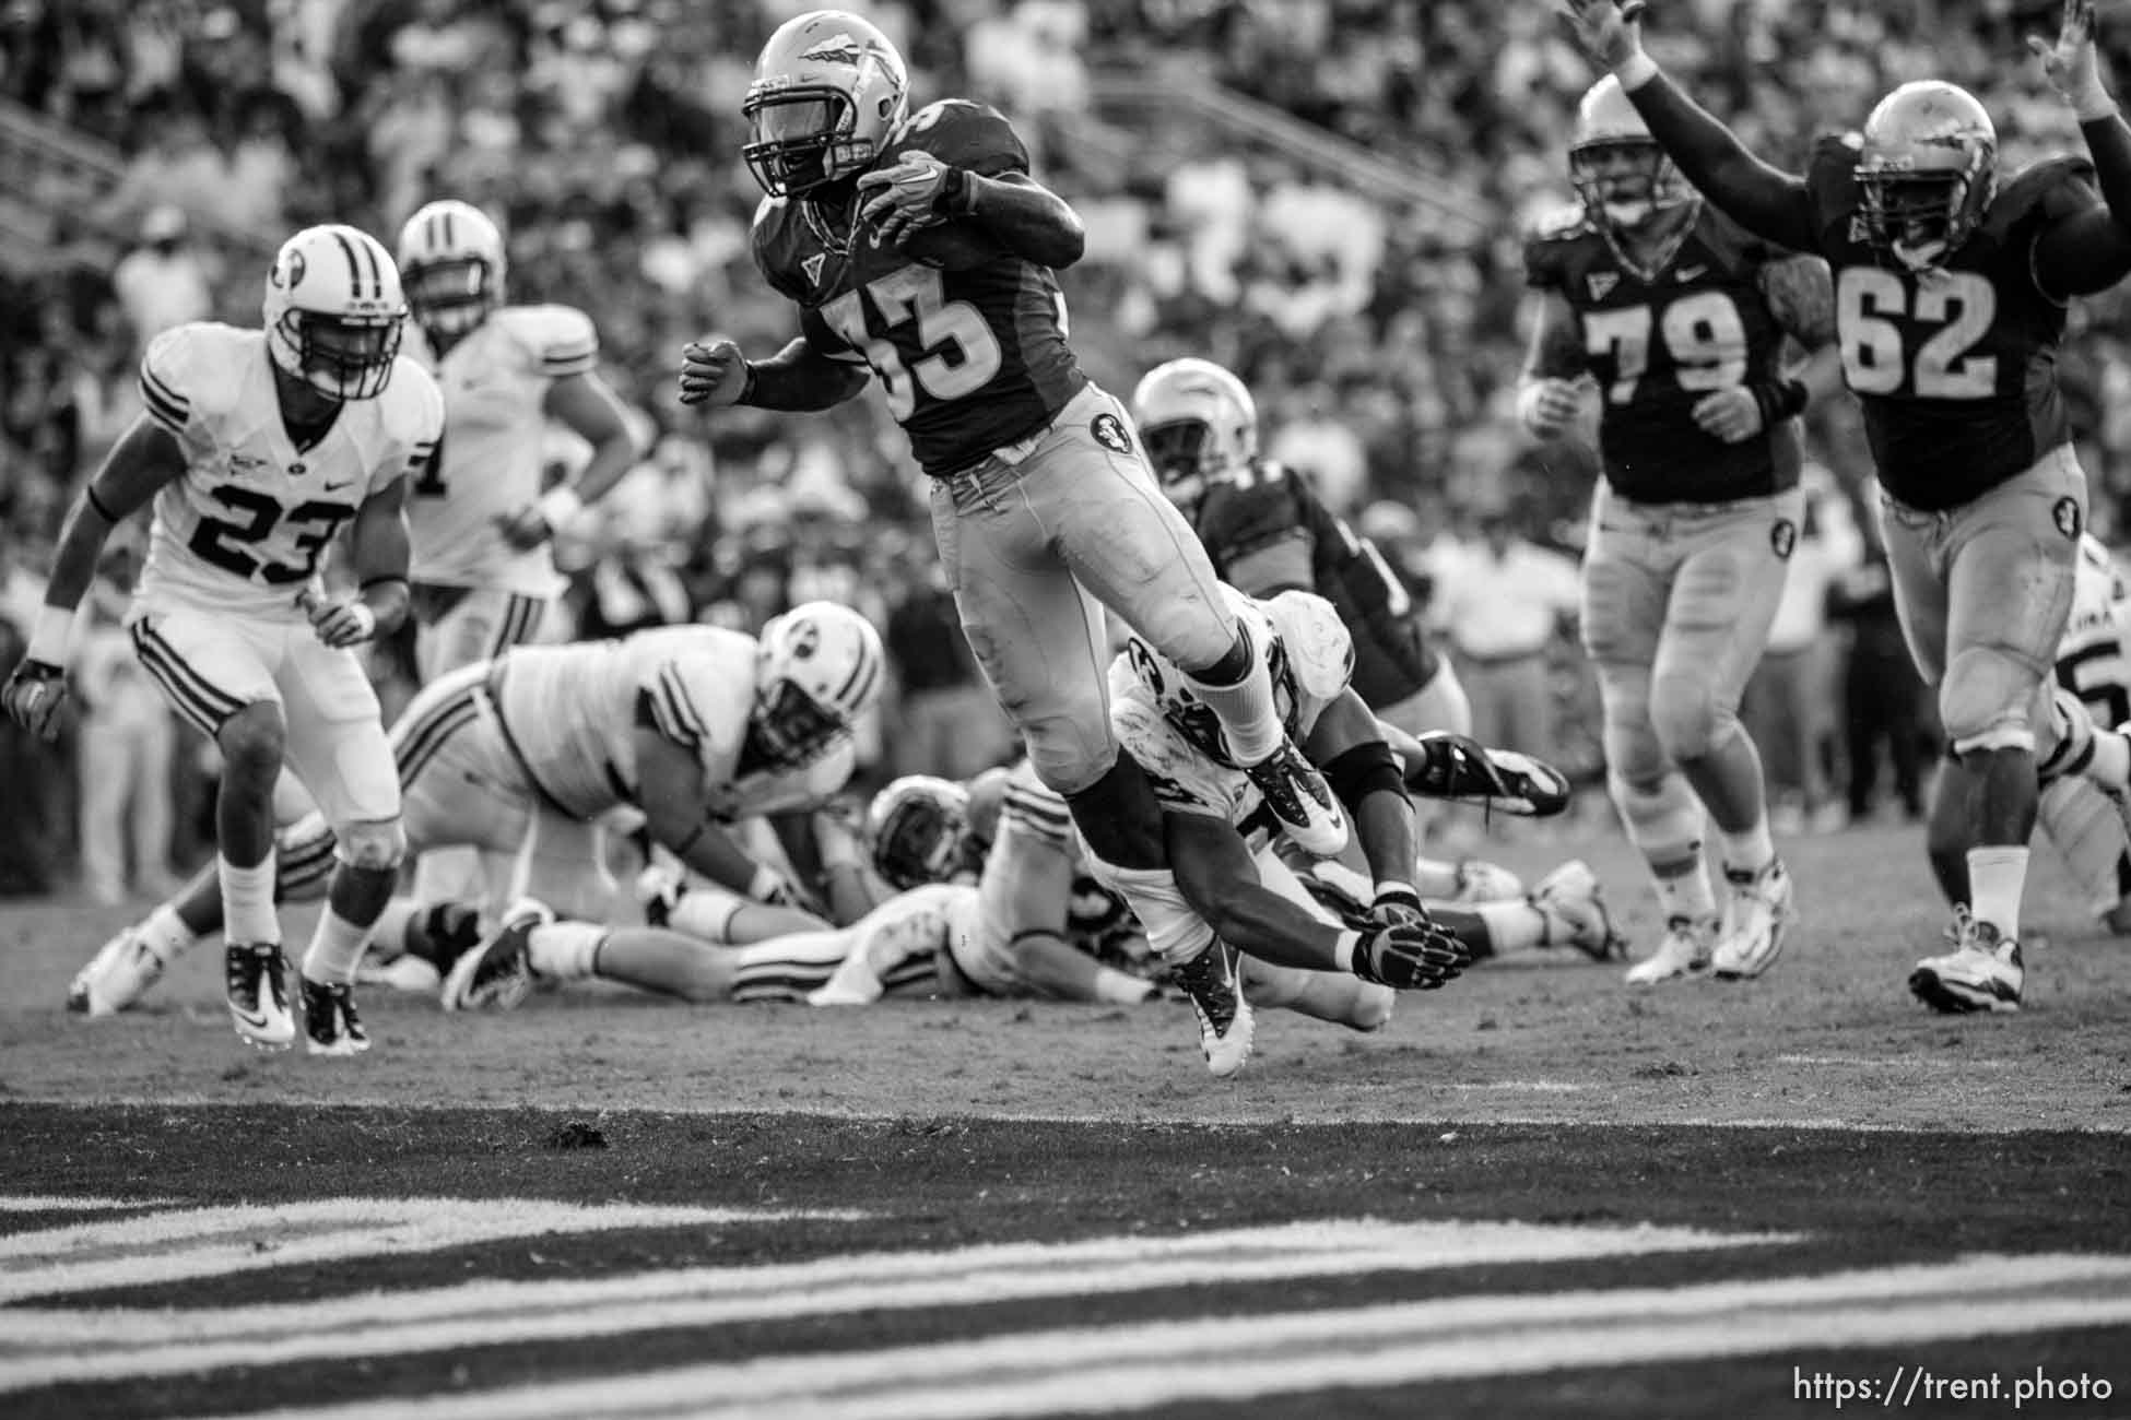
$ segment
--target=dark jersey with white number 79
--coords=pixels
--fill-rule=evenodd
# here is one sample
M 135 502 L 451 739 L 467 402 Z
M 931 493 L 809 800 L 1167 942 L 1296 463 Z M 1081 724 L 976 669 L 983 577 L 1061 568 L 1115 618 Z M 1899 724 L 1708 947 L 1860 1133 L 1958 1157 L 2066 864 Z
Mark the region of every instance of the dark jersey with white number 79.
M 1622 262 L 1583 209 L 1526 241 L 1526 285 L 1560 292 L 1577 315 L 1598 381 L 1598 453 L 1622 498 L 1735 502 L 1799 481 L 1796 419 L 1741 443 L 1694 422 L 1711 392 L 1777 377 L 1784 330 L 1760 268 L 1784 255 L 1707 204 L 1652 275 Z

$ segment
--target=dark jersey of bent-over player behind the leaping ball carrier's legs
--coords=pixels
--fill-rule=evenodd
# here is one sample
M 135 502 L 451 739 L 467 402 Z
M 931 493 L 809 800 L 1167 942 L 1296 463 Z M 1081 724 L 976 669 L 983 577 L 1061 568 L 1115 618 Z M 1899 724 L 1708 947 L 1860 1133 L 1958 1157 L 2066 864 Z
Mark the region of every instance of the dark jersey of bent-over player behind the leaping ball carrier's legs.
M 1398 705 L 1436 677 L 1406 583 L 1304 475 L 1259 460 L 1213 481 L 1191 522 L 1221 581 L 1251 596 L 1296 588 L 1332 602 L 1353 637 L 1353 690 L 1370 709 Z

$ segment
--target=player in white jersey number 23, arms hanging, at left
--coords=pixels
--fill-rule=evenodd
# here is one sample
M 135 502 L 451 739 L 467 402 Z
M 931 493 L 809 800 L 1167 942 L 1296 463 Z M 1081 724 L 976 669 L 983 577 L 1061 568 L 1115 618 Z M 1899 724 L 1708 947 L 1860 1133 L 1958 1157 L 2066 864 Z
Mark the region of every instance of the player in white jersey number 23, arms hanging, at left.
M 324 811 L 341 866 L 303 960 L 313 1054 L 369 1047 L 347 990 L 405 845 L 398 779 L 356 647 L 407 615 L 405 475 L 443 434 L 437 383 L 398 343 L 392 255 L 318 226 L 281 245 L 264 330 L 196 321 L 141 362 L 145 413 L 62 532 L 45 613 L 6 707 L 49 730 L 75 607 L 111 528 L 156 502 L 132 607 L 141 662 L 222 749 L 217 879 L 230 922 L 237 1035 L 294 1043 L 273 905 L 273 790 L 283 760 Z M 318 564 L 352 524 L 360 592 L 324 596 Z

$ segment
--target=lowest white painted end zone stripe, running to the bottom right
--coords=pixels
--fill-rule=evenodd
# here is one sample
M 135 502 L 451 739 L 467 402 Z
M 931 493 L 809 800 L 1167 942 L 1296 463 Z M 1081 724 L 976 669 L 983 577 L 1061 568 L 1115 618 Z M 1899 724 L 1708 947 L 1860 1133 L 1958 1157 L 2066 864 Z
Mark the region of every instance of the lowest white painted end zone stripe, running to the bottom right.
M 872 1352 L 774 1356 L 349 1405 L 249 1420 L 957 1420 L 1149 1409 L 1530 1375 L 1807 1345 L 1860 1348 L 2131 1322 L 2131 1258 L 1971 1256 L 1681 1288 L 1449 1297 L 1014 1333 Z

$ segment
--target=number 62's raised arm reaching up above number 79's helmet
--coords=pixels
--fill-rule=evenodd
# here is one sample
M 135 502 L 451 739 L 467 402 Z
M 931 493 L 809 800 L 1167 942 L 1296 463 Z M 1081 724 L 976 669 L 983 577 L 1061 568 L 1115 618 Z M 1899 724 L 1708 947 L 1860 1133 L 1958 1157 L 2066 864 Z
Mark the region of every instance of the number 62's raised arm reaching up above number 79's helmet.
M 1681 94 L 1643 53 L 1641 11 L 1615 0 L 1566 0 L 1566 19 L 1585 53 L 1628 94 L 1649 136 L 1726 217 L 1788 251 L 1818 249 L 1805 179 L 1764 164 L 1739 138 Z

